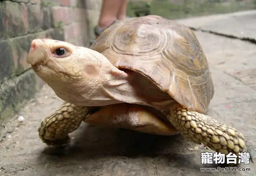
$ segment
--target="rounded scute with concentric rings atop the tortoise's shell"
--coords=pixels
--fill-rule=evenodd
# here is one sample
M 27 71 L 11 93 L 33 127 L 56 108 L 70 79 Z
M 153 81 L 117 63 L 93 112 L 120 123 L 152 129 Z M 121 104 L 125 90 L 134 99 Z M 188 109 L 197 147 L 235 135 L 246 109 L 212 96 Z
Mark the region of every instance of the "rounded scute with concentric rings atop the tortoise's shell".
M 123 24 L 122 30 L 112 38 L 111 49 L 118 54 L 141 56 L 158 55 L 166 45 L 165 33 L 149 24 Z M 150 30 L 151 29 L 151 30 Z M 164 36 L 166 39 L 166 34 Z

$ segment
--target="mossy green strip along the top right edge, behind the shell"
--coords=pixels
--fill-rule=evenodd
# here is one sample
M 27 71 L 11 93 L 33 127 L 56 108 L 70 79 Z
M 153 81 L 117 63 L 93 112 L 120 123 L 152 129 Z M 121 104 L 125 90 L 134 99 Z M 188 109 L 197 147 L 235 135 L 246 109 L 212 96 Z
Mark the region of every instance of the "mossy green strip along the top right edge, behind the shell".
M 127 14 L 135 17 L 135 6 L 138 2 L 129 2 Z M 138 7 L 141 4 L 138 3 Z M 151 14 L 159 15 L 168 19 L 178 19 L 192 16 L 202 16 L 209 14 L 230 13 L 241 10 L 252 10 L 256 7 L 256 0 L 248 2 L 219 2 L 211 0 L 198 2 L 196 0 L 184 0 L 183 4 L 170 3 L 168 0 L 153 0 L 150 4 Z M 143 8 L 145 8 L 143 6 Z

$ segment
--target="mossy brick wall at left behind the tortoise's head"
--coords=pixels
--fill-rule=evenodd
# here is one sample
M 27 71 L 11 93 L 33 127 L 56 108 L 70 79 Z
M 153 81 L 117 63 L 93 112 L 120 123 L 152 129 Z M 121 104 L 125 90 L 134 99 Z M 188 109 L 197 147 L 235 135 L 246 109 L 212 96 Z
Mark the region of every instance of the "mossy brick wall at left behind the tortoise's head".
M 96 3 L 101 1 L 96 1 L 0 1 L 0 123 L 13 116 L 43 85 L 26 63 L 30 42 L 47 37 L 89 46 L 97 20 L 91 13 L 99 15 L 100 10 Z

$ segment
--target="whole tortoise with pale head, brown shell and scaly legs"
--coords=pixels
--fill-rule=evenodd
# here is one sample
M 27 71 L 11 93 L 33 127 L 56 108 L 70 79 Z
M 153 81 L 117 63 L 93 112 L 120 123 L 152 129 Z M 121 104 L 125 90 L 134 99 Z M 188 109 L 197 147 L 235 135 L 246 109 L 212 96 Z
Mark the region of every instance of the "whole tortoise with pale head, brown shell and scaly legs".
M 94 124 L 138 130 L 129 120 L 134 117 L 144 119 L 138 125 L 145 133 L 180 133 L 226 155 L 246 151 L 241 133 L 206 115 L 214 95 L 209 63 L 197 37 L 183 24 L 157 15 L 124 19 L 103 31 L 90 48 L 34 39 L 27 62 L 65 101 L 39 126 L 39 136 L 49 145 L 68 143 L 68 133 L 88 117 Z M 114 120 L 108 123 L 104 116 Z M 117 124 L 123 116 L 128 116 L 126 125 Z M 149 125 L 152 120 L 155 125 Z

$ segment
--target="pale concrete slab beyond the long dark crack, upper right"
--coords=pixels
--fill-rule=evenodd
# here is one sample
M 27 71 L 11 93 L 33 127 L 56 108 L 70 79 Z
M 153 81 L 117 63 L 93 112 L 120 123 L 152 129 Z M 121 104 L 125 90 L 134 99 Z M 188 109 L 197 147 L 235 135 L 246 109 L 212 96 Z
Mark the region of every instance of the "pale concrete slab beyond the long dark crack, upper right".
M 233 36 L 239 39 L 256 39 L 256 10 L 192 17 L 177 21 L 194 29 Z

